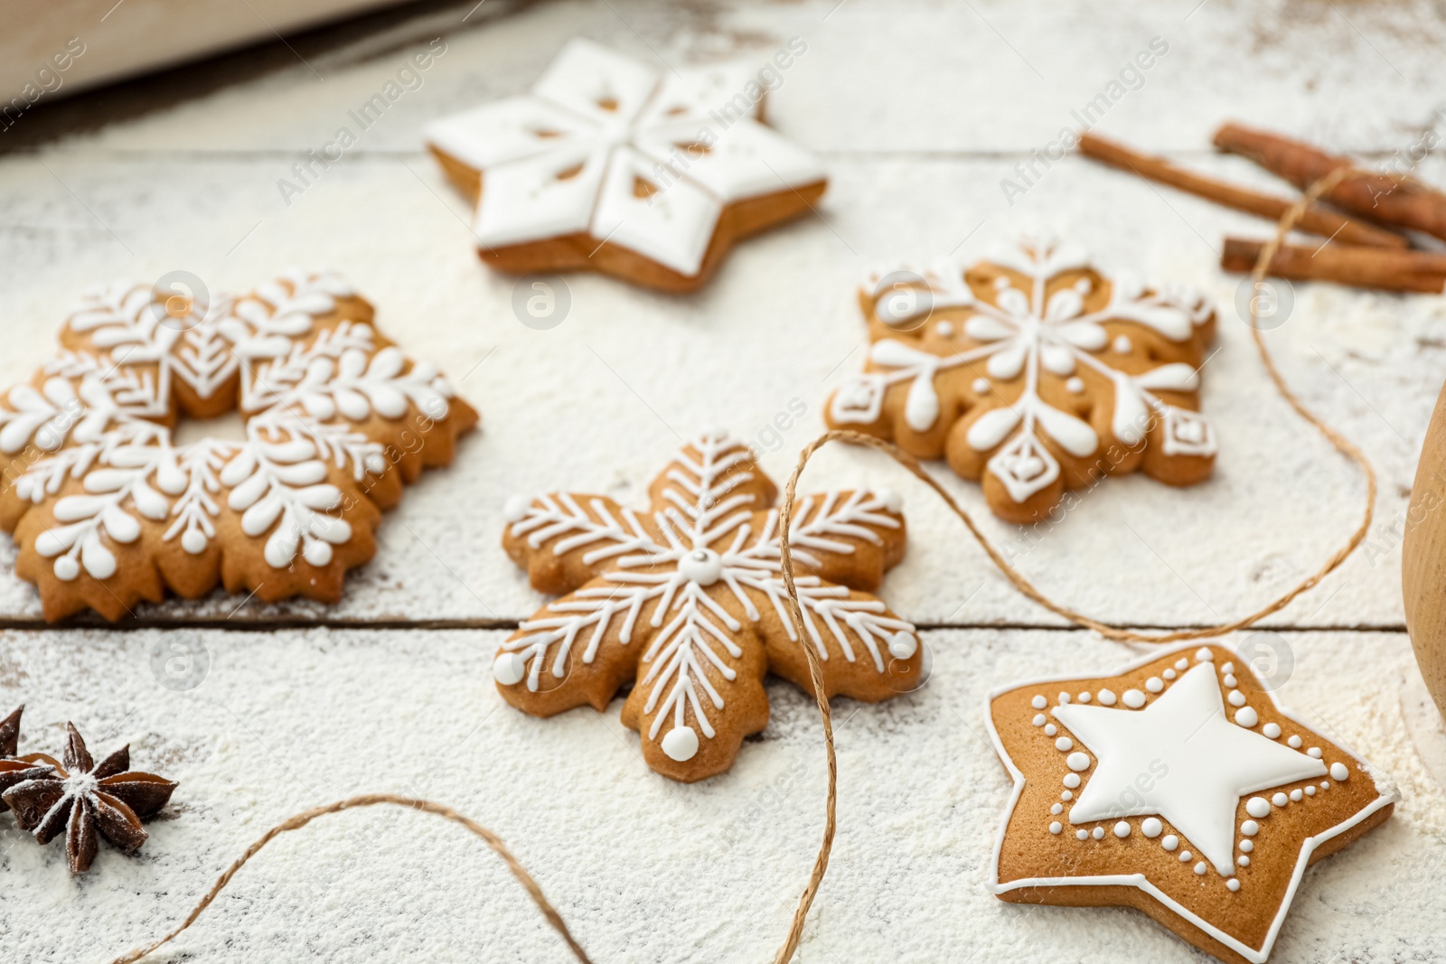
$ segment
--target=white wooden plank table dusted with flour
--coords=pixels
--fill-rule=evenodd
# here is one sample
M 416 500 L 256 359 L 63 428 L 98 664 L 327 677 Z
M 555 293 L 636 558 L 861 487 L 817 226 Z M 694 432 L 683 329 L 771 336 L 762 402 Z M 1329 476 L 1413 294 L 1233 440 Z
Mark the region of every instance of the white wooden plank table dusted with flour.
M 573 35 L 672 64 L 763 64 L 803 38 L 769 117 L 826 159 L 820 217 L 745 244 L 697 296 L 574 276 L 560 327 L 519 324 L 513 282 L 479 264 L 466 205 L 419 132 L 525 90 Z M 447 52 L 422 88 L 285 204 L 278 179 L 437 36 Z M 185 269 L 236 289 L 330 266 L 385 331 L 450 371 L 483 425 L 383 522 L 376 561 L 335 607 L 215 595 L 114 629 L 52 627 L 0 543 L 0 710 L 26 702 L 26 746 L 58 746 L 74 720 L 93 749 L 129 740 L 137 766 L 181 782 L 175 818 L 152 825 L 139 856 L 103 847 L 84 879 L 59 844 L 38 848 L 0 822 L 7 957 L 110 960 L 178 922 L 266 827 L 389 791 L 500 832 L 594 960 L 772 960 L 823 825 L 816 710 L 771 682 L 768 730 L 730 773 L 694 786 L 646 770 L 620 702 L 549 721 L 515 713 L 493 688 L 493 647 L 544 598 L 499 549 L 502 503 L 555 487 L 638 497 L 680 435 L 723 423 L 756 438 L 800 399 L 807 415 L 765 458 L 781 481 L 821 429 L 830 387 L 860 364 L 853 286 L 881 263 L 982 253 L 1045 227 L 1220 304 L 1203 396 L 1222 438 L 1213 480 L 1092 493 L 1018 558 L 1056 598 L 1116 623 L 1200 626 L 1314 571 L 1356 525 L 1364 483 L 1275 396 L 1232 308 L 1239 279 L 1216 267 L 1226 231 L 1267 227 L 1077 158 L 1012 205 L 1001 191 L 1155 36 L 1168 53 L 1098 129 L 1242 182 L 1271 184 L 1209 152 L 1223 120 L 1384 160 L 1443 106 L 1446 25 L 1426 3 L 604 0 L 424 6 L 296 39 L 295 55 L 231 58 L 228 81 L 188 68 L 22 119 L 0 143 L 0 382 L 51 353 L 87 286 Z M 121 120 L 95 123 L 107 116 Z M 1446 184 L 1439 156 L 1420 173 Z M 1381 474 L 1365 549 L 1270 620 L 1296 663 L 1281 697 L 1404 796 L 1384 828 L 1307 873 L 1274 960 L 1446 960 L 1446 791 L 1432 770 L 1446 736 L 1420 708 L 1400 603 L 1400 520 L 1446 361 L 1446 302 L 1300 285 L 1270 343 Z M 805 481 L 820 487 L 905 494 L 910 555 L 884 595 L 927 627 L 934 676 L 910 698 L 836 708 L 839 838 L 797 960 L 1199 960 L 1142 915 L 1031 911 L 983 887 L 1009 788 L 980 739 L 985 692 L 1132 650 L 1018 597 L 891 462 L 830 449 L 816 465 Z M 983 510 L 976 487 L 940 471 Z M 1018 529 L 985 528 L 1024 545 Z M 152 672 L 171 633 L 210 655 L 191 691 Z M 500 861 L 402 812 L 330 818 L 273 844 L 174 947 L 161 960 L 570 960 Z

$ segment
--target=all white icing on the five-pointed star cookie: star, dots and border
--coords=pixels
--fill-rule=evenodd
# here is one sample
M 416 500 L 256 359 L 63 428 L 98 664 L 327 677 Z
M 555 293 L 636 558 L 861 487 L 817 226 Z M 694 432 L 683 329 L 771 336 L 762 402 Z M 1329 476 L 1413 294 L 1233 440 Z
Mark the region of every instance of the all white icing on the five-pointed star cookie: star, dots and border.
M 1177 652 L 1184 652 L 1184 649 L 1187 647 L 1181 647 Z M 1158 814 L 1164 819 L 1168 819 L 1193 847 L 1199 848 L 1200 856 L 1206 858 L 1194 864 L 1194 873 L 1205 876 L 1213 864 L 1226 877 L 1226 887 L 1235 893 L 1241 890 L 1239 882 L 1233 876 L 1236 867 L 1233 831 L 1239 798 L 1252 791 L 1271 789 L 1283 783 L 1317 776 L 1327 770 L 1319 759 L 1310 754 L 1299 753 L 1252 730 L 1245 730 L 1226 721 L 1216 671 L 1210 662 L 1213 660 L 1213 653 L 1206 647 L 1200 647 L 1194 652 L 1194 658 L 1197 660 L 1196 665 L 1189 672 L 1183 672 L 1180 679 L 1164 695 L 1151 701 L 1147 708 L 1109 710 L 1098 705 L 1061 704 L 1050 710 L 1074 734 L 1074 740 L 1086 746 L 1098 757 L 1098 765 L 1092 767 L 1089 782 L 1070 808 L 1069 822 L 1082 824 Z M 1157 659 L 1160 656 L 1151 653 L 1124 668 L 1121 672 L 1131 672 L 1154 663 Z M 1189 660 L 1181 658 L 1176 666 L 1184 669 L 1189 666 Z M 1378 795 L 1371 804 L 1351 814 L 1335 827 L 1307 837 L 1301 843 L 1290 885 L 1271 918 L 1270 929 L 1259 947 L 1246 945 L 1216 924 L 1187 909 L 1152 883 L 1147 873 L 1048 879 L 1027 877 L 1001 883 L 999 858 L 1005 832 L 1009 828 L 1014 809 L 1019 804 L 1025 780 L 999 739 L 999 731 L 993 721 L 992 702 L 999 695 L 1024 687 L 1043 688 L 1053 682 L 1069 681 L 1073 681 L 1073 678 L 1056 676 L 1051 679 L 1025 681 L 995 689 L 985 701 L 985 723 L 989 727 L 989 736 L 1005 767 L 1014 778 L 1014 792 L 1005 808 L 995 840 L 993 861 L 991 863 L 989 887 L 993 893 L 1040 886 L 1057 887 L 1061 885 L 1138 887 L 1245 960 L 1252 961 L 1252 964 L 1264 964 L 1270 957 L 1271 947 L 1280 934 L 1280 926 L 1294 899 L 1296 889 L 1316 848 L 1361 824 L 1381 808 L 1390 806 L 1400 796 L 1390 780 L 1377 778 Z M 1290 715 L 1275 702 L 1274 695 L 1268 695 L 1267 698 L 1278 713 Z M 1154 780 L 1138 780 L 1142 773 L 1151 773 L 1151 763 L 1157 767 L 1161 763 L 1168 766 L 1168 773 Z M 1366 769 L 1359 760 L 1355 765 Z M 1346 763 L 1333 763 L 1329 772 L 1338 782 L 1339 778 L 1336 778 L 1335 767 L 1349 775 Z M 1375 776 L 1374 772 L 1371 773 Z M 1070 776 L 1077 776 L 1077 773 L 1070 773 Z M 1329 789 L 1329 780 L 1322 780 L 1320 785 L 1323 789 Z M 1150 789 L 1144 789 L 1145 786 Z M 1304 788 L 1304 792 L 1310 795 L 1316 786 L 1310 785 Z M 1291 795 L 1290 799 L 1294 801 L 1297 798 Z M 1272 812 L 1271 801 L 1262 796 L 1248 799 L 1245 806 L 1246 812 L 1252 817 L 1262 809 L 1267 815 Z M 1119 822 L 1128 824 L 1128 821 Z M 1147 817 L 1139 824 L 1139 830 L 1147 837 L 1152 837 L 1163 830 L 1163 824 L 1155 817 Z M 1246 838 L 1254 837 L 1259 832 L 1259 824 L 1254 818 L 1245 819 L 1241 822 L 1239 831 Z M 1076 837 L 1082 841 L 1092 837 L 1100 840 L 1103 837 L 1103 825 L 1096 825 L 1093 831 L 1080 828 L 1076 831 Z M 1181 840 L 1174 834 L 1167 834 L 1161 838 L 1160 844 L 1164 850 L 1174 851 L 1180 847 Z M 1244 840 L 1239 848 L 1248 853 L 1254 850 L 1254 844 L 1249 840 Z M 1190 863 L 1194 860 L 1194 853 L 1181 850 L 1178 858 L 1181 863 Z M 1248 861 L 1249 858 L 1246 857 L 1244 861 L 1239 861 L 1239 866 L 1248 866 Z

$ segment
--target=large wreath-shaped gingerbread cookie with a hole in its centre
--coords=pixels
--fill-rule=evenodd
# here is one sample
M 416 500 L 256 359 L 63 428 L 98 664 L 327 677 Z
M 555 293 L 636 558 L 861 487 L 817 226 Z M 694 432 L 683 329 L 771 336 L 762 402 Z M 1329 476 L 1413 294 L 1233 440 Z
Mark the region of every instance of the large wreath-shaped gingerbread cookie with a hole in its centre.
M 202 305 L 146 285 L 87 295 L 61 351 L 0 396 L 0 526 L 45 617 L 120 619 L 217 582 L 334 603 L 380 510 L 477 421 L 333 275 Z M 239 410 L 244 441 L 174 445 Z

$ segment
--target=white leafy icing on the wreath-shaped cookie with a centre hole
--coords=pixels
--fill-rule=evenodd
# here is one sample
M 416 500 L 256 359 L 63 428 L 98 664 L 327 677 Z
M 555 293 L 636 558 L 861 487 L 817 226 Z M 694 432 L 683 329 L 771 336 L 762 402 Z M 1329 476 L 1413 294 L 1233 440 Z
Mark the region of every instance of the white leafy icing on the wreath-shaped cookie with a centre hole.
M 136 542 L 142 519 L 168 523 L 162 539 L 187 554 L 205 552 L 223 502 L 241 513 L 247 538 L 266 538 L 270 567 L 298 555 L 330 562 L 351 526 L 335 512 L 343 493 L 327 481 L 328 464 L 359 481 L 386 467 L 382 445 L 350 423 L 396 419 L 408 405 L 442 418 L 453 395 L 428 364 L 403 371 L 406 358 L 377 348 L 370 325 L 343 322 L 309 338 L 312 319 L 350 293 L 335 275 L 291 272 L 181 319 L 158 311 L 146 285 L 85 295 L 67 324 L 103 354 L 61 353 L 40 392 L 12 389 L 0 406 L 0 451 L 52 452 L 16 480 L 22 499 L 40 503 L 68 478 L 85 490 L 58 499 L 58 525 L 35 539 L 55 575 L 110 578 L 117 561 L 107 539 Z M 174 383 L 208 399 L 237 373 L 246 439 L 172 445 L 153 419 L 169 413 Z

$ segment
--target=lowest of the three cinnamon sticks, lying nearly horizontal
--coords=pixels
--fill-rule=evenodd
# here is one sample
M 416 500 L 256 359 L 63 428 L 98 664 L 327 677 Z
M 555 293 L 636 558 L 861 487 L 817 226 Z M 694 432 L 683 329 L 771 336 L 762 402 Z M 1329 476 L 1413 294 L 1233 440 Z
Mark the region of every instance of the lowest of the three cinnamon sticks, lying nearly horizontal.
M 1255 270 L 1264 241 L 1228 237 L 1220 267 L 1228 272 Z M 1440 295 L 1446 291 L 1446 254 L 1400 251 L 1385 247 L 1326 244 L 1320 249 L 1281 244 L 1267 273 L 1296 280 L 1323 280 L 1358 288 L 1416 291 Z

